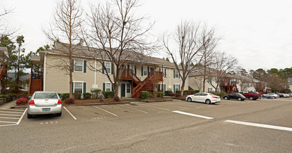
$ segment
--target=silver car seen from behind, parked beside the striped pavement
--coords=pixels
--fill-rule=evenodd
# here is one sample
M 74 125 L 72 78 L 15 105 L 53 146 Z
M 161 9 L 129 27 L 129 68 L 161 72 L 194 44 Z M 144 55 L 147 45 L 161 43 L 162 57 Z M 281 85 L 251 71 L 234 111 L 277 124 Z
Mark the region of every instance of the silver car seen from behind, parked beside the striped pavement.
M 56 92 L 35 92 L 29 99 L 27 108 L 27 118 L 40 114 L 62 115 L 62 101 Z

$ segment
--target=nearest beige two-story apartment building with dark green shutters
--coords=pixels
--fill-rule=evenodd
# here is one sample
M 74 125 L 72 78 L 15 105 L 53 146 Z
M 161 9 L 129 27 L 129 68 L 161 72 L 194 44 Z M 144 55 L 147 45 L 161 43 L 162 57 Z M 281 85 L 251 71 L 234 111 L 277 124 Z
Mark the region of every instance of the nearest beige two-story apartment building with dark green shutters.
M 31 71 L 30 92 L 36 90 L 55 91 L 60 93 L 69 92 L 69 76 L 62 63 L 69 61 L 67 56 L 62 54 L 62 45 L 55 44 L 54 49 L 41 51 L 40 56 L 32 56 L 33 65 L 41 65 L 42 72 Z M 113 80 L 115 65 L 103 58 L 105 67 L 100 63 L 101 57 L 86 56 L 81 54 L 87 51 L 87 47 L 79 47 L 79 53 L 74 54 L 74 71 L 72 73 L 73 92 L 90 92 L 91 90 L 113 91 L 113 84 L 109 81 L 106 72 Z M 97 49 L 96 49 L 97 50 Z M 133 54 L 129 52 L 128 54 Z M 165 61 L 162 58 L 143 56 L 140 58 L 127 58 L 124 61 L 123 69 L 120 72 L 120 86 L 118 87 L 119 97 L 139 97 L 143 90 L 180 90 L 181 79 L 174 63 Z M 106 69 L 106 70 L 105 70 Z M 188 79 L 184 90 L 188 90 Z

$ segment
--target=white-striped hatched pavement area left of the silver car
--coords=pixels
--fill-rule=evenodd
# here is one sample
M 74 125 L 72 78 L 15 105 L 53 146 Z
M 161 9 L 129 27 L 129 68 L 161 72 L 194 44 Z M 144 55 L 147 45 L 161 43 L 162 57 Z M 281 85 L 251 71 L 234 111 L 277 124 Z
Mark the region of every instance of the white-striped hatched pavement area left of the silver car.
M 25 113 L 26 109 L 0 109 L 0 127 L 19 124 Z

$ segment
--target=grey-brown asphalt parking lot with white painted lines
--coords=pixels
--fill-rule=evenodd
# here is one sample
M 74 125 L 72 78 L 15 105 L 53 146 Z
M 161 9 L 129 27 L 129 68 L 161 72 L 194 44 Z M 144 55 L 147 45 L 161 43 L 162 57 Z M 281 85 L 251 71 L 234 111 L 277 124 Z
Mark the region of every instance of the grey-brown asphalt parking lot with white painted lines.
M 27 152 L 44 151 L 43 147 L 51 152 L 287 152 L 292 150 L 291 108 L 292 98 L 65 106 L 60 117 L 32 119 L 26 118 L 25 109 L 3 110 L 0 145 L 4 152 L 20 151 L 20 145 L 13 147 L 11 142 L 27 139 L 22 136 L 25 131 L 33 141 L 38 140 L 36 132 L 65 142 L 48 147 L 46 143 L 56 143 L 49 136 L 40 140 L 44 144 L 25 148 Z M 14 135 L 18 137 L 10 138 Z

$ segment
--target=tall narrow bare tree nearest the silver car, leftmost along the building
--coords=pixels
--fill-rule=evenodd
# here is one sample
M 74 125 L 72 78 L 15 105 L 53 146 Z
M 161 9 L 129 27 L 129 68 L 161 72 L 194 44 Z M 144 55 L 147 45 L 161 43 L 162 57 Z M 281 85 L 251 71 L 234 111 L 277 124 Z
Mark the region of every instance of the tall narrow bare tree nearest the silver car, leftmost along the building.
M 83 22 L 80 3 L 77 0 L 63 0 L 57 4 L 54 14 L 54 22 L 48 29 L 44 30 L 49 40 L 61 45 L 55 49 L 62 55 L 60 63 L 55 63 L 54 67 L 60 67 L 69 75 L 70 97 L 72 93 L 72 72 L 74 70 L 73 57 L 79 52 L 79 33 L 81 32 L 81 22 Z

